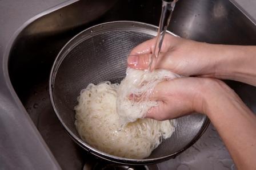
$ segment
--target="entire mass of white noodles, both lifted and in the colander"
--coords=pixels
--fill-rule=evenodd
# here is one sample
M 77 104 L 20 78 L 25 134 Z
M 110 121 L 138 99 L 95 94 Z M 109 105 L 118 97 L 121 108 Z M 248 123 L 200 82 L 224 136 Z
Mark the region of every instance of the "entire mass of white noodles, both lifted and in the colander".
M 152 90 L 158 82 L 174 78 L 174 74 L 160 71 L 144 75 L 143 72 L 127 69 L 121 85 L 101 82 L 89 84 L 81 91 L 75 106 L 75 126 L 83 141 L 110 155 L 143 159 L 158 147 L 162 138 L 171 136 L 173 121 L 140 119 L 150 107 L 158 105 L 157 101 L 134 103 L 127 96 Z M 126 126 L 121 126 L 124 122 Z

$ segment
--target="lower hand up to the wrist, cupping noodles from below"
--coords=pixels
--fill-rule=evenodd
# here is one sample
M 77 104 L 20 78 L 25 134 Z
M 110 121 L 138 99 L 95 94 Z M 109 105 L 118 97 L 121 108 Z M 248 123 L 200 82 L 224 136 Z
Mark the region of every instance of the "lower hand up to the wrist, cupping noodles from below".
M 202 110 L 202 85 L 208 78 L 182 77 L 160 82 L 155 86 L 149 99 L 159 101 L 146 114 L 147 118 L 159 121 L 181 117 L 194 111 Z M 201 89 L 201 90 L 200 90 Z

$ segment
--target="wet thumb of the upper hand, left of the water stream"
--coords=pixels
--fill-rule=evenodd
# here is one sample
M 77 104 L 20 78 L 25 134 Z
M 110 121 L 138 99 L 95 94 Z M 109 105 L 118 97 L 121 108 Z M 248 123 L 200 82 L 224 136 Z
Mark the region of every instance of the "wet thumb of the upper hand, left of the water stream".
M 151 53 L 145 53 L 142 55 L 130 55 L 127 59 L 127 65 L 134 69 L 148 69 L 151 55 Z

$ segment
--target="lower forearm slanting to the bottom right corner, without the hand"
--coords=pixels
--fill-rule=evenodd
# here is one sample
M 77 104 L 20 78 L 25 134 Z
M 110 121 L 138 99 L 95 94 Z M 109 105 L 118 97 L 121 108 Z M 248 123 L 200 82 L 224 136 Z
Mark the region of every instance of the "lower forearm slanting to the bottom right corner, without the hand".
M 256 117 L 231 89 L 221 93 L 226 94 L 209 94 L 205 113 L 238 169 L 256 169 Z

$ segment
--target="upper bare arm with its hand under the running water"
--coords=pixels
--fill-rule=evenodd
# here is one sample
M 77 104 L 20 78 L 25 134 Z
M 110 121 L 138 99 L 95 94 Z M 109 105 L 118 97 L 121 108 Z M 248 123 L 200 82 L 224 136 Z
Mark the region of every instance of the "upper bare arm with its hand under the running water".
M 131 51 L 128 65 L 147 69 L 155 39 Z M 154 68 L 169 69 L 184 76 L 203 76 L 245 82 L 256 86 L 256 46 L 194 42 L 166 35 Z

